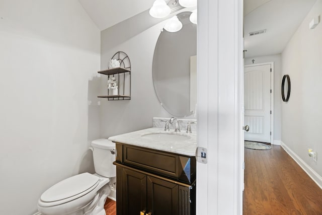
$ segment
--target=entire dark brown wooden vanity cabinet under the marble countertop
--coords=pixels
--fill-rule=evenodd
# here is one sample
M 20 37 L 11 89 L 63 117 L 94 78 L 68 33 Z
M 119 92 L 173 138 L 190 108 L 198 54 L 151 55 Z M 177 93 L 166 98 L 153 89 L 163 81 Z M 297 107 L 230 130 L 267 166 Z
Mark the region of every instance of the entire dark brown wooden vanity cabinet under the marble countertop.
M 130 150 L 128 150 L 130 148 Z M 164 168 L 161 170 L 162 173 L 157 170 L 151 171 L 148 169 L 142 168 L 141 165 L 145 165 L 147 162 L 150 165 L 153 165 L 153 162 L 146 161 L 142 162 L 142 157 L 137 161 L 140 163 L 140 167 L 135 167 L 133 163 L 131 165 L 126 164 L 126 158 L 132 158 L 131 162 L 135 162 L 136 159 L 133 159 L 133 155 L 126 155 L 128 153 L 133 153 L 133 149 L 144 151 L 145 153 L 153 153 L 154 161 L 158 161 L 161 156 L 161 159 L 164 159 L 163 156 L 177 156 L 177 159 L 174 159 L 173 162 L 176 164 L 175 169 L 181 170 L 178 168 L 180 165 L 181 155 L 165 153 L 155 150 L 150 150 L 146 148 L 134 147 L 129 145 L 117 144 L 117 159 L 114 162 L 116 165 L 116 180 L 117 180 L 117 189 L 116 189 L 116 212 L 117 215 L 194 215 L 195 214 L 195 159 L 194 157 L 187 157 L 192 159 L 186 163 L 186 170 L 189 169 L 187 166 L 193 167 L 194 170 L 188 171 L 189 174 L 193 173 L 192 183 L 183 183 L 182 180 L 177 178 L 174 179 L 173 173 L 168 175 L 162 174 L 165 171 Z M 136 151 L 135 151 L 136 152 Z M 120 155 L 121 153 L 121 155 Z M 136 152 L 137 153 L 137 152 Z M 144 153 L 143 153 L 144 154 Z M 145 154 L 146 155 L 146 154 Z M 148 156 L 149 157 L 149 156 Z M 188 160 L 189 160 L 188 159 Z M 185 160 L 185 159 L 181 159 Z M 143 163 L 143 164 L 142 164 Z M 158 166 L 158 164 L 155 164 Z M 164 165 L 164 164 L 162 164 Z M 169 167 L 174 168 L 174 167 Z M 175 174 L 176 175 L 176 174 Z M 182 174 L 177 174 L 181 176 Z M 187 174 L 186 174 L 187 175 Z M 179 177 L 180 178 L 180 177 Z M 182 177 L 181 177 L 182 178 Z M 189 177 L 188 177 L 189 178 Z M 191 178 L 191 176 L 190 176 Z

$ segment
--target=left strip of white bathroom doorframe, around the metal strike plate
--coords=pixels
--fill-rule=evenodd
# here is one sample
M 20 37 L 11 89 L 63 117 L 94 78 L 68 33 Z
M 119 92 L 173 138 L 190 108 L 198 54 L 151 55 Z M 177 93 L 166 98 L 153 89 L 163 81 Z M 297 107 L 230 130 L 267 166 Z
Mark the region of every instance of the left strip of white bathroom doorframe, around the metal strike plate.
M 210 101 L 209 97 L 218 98 L 218 88 L 214 84 L 218 83 L 218 1 L 205 0 L 197 4 L 197 144 L 207 148 L 211 156 L 208 156 L 207 164 L 197 162 L 196 214 L 215 215 L 218 214 L 218 107 L 217 102 Z M 213 84 L 208 82 L 210 78 Z M 214 113 L 210 115 L 209 109 Z M 208 129 L 213 132 L 208 132 Z M 210 139 L 211 145 L 208 144 Z

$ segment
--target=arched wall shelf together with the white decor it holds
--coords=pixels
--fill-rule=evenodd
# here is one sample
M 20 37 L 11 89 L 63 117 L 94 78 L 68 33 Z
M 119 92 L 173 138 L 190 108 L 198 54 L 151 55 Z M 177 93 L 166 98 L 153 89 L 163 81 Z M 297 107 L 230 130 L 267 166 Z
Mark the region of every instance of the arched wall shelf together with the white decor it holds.
M 107 95 L 98 96 L 108 100 L 131 99 L 131 62 L 123 51 L 116 52 L 109 61 L 108 69 L 98 71 L 108 76 Z

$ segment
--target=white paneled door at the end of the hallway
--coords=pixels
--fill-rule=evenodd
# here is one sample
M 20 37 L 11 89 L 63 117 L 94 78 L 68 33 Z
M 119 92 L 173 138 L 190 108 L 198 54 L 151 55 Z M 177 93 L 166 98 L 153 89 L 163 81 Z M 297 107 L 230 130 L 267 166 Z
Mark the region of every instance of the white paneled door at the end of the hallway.
M 271 64 L 245 65 L 245 140 L 271 142 Z

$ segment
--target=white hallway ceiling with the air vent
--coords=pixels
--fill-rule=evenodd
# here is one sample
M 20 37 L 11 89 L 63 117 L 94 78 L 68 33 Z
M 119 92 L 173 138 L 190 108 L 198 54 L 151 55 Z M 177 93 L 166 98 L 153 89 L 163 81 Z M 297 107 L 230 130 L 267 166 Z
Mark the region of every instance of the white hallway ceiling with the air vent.
M 244 0 L 245 57 L 281 53 L 315 2 Z M 249 36 L 250 32 L 264 29 L 265 34 Z

